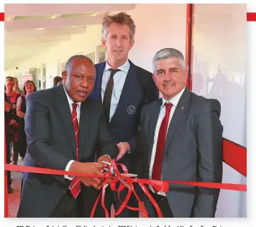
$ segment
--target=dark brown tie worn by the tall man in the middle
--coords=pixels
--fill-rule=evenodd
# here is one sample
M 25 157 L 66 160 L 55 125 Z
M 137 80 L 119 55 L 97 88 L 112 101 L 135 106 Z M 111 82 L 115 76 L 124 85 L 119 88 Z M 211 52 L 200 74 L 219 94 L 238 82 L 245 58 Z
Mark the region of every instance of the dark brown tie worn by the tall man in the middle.
M 113 87 L 114 87 L 114 74 L 120 71 L 119 69 L 116 69 L 116 70 L 109 69 L 109 70 L 111 70 L 111 73 L 110 73 L 109 81 L 106 84 L 106 90 L 105 90 L 104 99 L 103 99 L 103 105 L 105 108 L 105 118 L 106 118 L 106 122 L 108 123 L 109 123 L 109 113 L 110 113 L 110 106 L 111 106 L 111 96 L 112 96 Z

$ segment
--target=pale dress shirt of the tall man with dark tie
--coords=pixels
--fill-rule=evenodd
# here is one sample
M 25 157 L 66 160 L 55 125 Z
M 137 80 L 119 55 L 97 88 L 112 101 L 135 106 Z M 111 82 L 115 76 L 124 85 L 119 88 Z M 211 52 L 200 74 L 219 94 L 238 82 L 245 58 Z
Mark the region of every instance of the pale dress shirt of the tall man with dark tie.
M 127 73 L 129 71 L 130 63 L 129 60 L 127 60 L 124 65 L 119 66 L 120 71 L 116 72 L 114 74 L 114 86 L 111 96 L 111 105 L 110 105 L 110 111 L 109 111 L 109 122 L 111 121 L 112 117 L 114 116 L 114 112 L 116 111 L 116 106 L 119 103 L 120 96 L 122 94 L 123 88 L 124 88 L 124 82 L 127 78 Z M 109 82 L 110 77 L 110 70 L 111 66 L 106 62 L 106 66 L 103 72 L 102 76 L 102 83 L 101 83 L 101 100 L 104 101 L 104 93 L 106 91 L 106 85 Z

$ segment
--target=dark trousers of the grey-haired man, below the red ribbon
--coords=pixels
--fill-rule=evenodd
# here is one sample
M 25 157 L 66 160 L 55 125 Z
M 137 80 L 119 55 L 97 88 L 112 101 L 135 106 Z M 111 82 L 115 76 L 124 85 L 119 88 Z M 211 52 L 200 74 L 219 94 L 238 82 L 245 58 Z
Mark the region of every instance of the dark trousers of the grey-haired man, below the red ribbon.
M 151 191 L 150 191 L 151 193 Z M 157 205 L 159 206 L 161 213 L 163 215 L 163 218 L 174 218 L 173 216 L 173 212 L 172 210 L 170 210 L 170 205 L 168 203 L 168 199 L 166 198 L 166 196 L 163 195 L 157 195 L 155 193 L 151 193 L 152 197 L 155 199 L 155 202 L 157 203 Z M 147 200 L 147 203 L 149 203 L 151 205 L 152 211 L 153 212 L 149 212 L 149 216 L 150 218 L 157 218 L 157 210 L 155 209 L 155 206 L 152 205 L 152 203 L 150 202 L 150 200 Z

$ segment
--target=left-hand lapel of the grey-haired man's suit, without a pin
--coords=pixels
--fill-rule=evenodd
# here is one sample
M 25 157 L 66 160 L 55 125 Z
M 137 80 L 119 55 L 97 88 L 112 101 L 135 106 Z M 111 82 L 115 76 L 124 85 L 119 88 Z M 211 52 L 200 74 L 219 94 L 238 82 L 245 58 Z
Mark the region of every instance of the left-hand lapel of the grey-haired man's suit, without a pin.
M 154 137 L 155 137 L 155 127 L 157 126 L 157 120 L 158 120 L 158 116 L 160 114 L 160 107 L 163 103 L 162 98 L 160 98 L 156 105 L 154 110 L 152 111 L 152 114 L 150 116 L 150 130 L 149 130 L 149 134 L 150 134 L 150 145 L 149 145 L 149 156 L 148 156 L 148 162 L 150 165 L 150 159 L 151 159 L 151 154 L 152 154 L 152 147 L 154 144 Z

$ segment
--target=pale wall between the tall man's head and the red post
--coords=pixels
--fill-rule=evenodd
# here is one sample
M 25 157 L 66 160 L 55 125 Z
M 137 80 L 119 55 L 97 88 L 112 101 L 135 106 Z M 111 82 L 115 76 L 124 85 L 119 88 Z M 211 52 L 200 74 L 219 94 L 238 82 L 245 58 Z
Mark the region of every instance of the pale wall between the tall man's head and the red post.
M 158 50 L 174 47 L 186 55 L 186 4 L 139 4 L 129 14 L 136 24 L 129 59 L 152 72 Z

